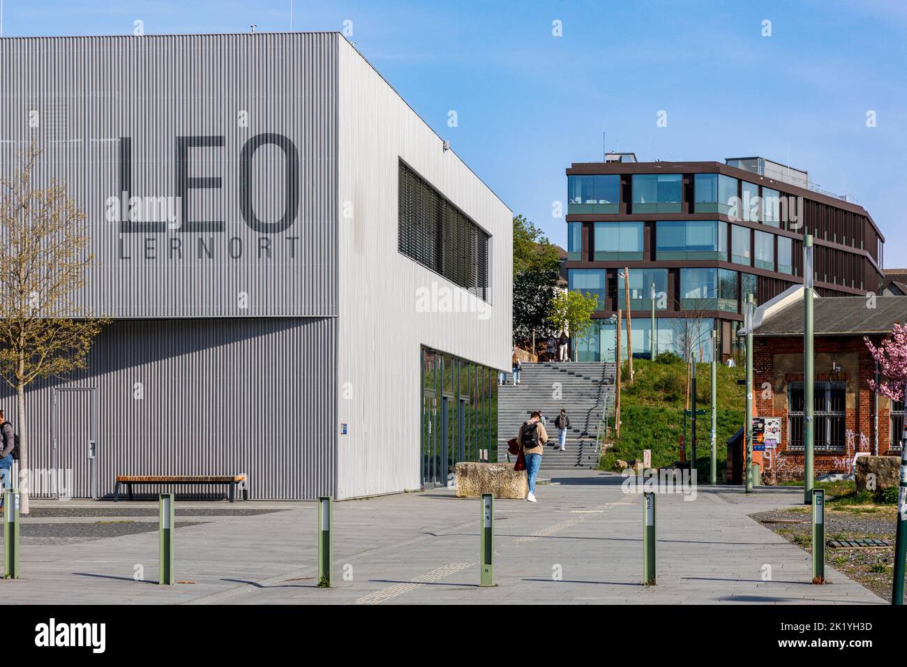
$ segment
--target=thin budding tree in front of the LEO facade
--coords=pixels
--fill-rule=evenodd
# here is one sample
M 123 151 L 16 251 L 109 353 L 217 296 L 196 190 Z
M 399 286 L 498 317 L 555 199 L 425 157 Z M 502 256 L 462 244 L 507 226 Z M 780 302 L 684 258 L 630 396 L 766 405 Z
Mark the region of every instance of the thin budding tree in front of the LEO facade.
M 93 264 L 85 215 L 64 185 L 34 183 L 34 144 L 0 179 L 0 378 L 15 390 L 21 512 L 28 514 L 29 427 L 25 387 L 87 368 L 106 320 L 75 301 Z

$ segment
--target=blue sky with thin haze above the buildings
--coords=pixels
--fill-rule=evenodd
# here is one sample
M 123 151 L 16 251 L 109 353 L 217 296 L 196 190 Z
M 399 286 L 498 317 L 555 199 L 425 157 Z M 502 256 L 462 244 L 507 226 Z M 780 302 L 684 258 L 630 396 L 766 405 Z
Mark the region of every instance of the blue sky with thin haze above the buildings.
M 4 5 L 7 36 L 132 34 L 136 19 L 146 34 L 291 27 L 290 0 Z M 292 5 L 295 30 L 351 21 L 350 39 L 425 122 L 562 245 L 552 202 L 566 200 L 564 169 L 600 160 L 606 129 L 609 150 L 640 160 L 789 160 L 824 190 L 851 193 L 887 239 L 885 266 L 907 266 L 907 3 Z

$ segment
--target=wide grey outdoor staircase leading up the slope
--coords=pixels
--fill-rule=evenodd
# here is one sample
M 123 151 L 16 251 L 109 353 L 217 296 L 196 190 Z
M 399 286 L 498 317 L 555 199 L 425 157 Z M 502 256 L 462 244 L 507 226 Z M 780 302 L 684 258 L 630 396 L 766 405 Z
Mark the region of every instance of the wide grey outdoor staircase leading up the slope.
M 613 363 L 545 362 L 523 364 L 520 385 L 498 387 L 498 461 L 513 460 L 508 457 L 507 441 L 516 437 L 520 426 L 533 410 L 541 410 L 546 417 L 548 445 L 541 457 L 541 471 L 575 470 L 599 465 L 597 432 L 606 397 L 613 396 Z M 555 398 L 559 389 L 560 398 Z M 613 398 L 610 399 L 613 405 Z M 570 416 L 567 431 L 567 451 L 556 449 L 558 429 L 554 419 L 561 407 Z

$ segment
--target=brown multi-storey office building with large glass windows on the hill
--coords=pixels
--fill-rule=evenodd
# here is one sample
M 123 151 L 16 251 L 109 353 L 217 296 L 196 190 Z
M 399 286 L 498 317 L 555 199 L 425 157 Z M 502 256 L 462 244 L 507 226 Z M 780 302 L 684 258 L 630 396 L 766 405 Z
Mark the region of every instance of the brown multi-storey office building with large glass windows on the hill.
M 765 302 L 803 282 L 805 233 L 814 236 L 815 287 L 826 297 L 865 295 L 883 280 L 883 242 L 870 214 L 821 191 L 807 172 L 764 158 L 726 162 L 605 162 L 567 169 L 570 289 L 599 297 L 596 326 L 574 341 L 580 360 L 613 358 L 629 269 L 632 351 L 711 358 L 712 329 L 726 358 L 753 293 Z M 624 315 L 624 314 L 622 314 Z M 625 318 L 625 315 L 624 315 Z M 622 336 L 626 345 L 626 320 Z

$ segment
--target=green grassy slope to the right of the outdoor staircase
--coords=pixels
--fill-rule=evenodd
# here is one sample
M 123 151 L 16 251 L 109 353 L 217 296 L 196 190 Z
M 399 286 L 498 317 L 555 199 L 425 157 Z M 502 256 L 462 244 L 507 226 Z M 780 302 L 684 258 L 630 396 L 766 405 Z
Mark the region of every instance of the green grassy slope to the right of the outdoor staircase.
M 652 450 L 652 466 L 670 466 L 679 459 L 678 436 L 683 433 L 683 407 L 686 397 L 686 364 L 633 359 L 635 378 L 629 384 L 627 363 L 621 371 L 623 391 L 620 398 L 620 439 L 602 456 L 601 466 L 613 469 L 614 461 L 642 458 L 644 449 Z M 727 467 L 727 438 L 743 425 L 745 387 L 737 385 L 744 368 L 717 367 L 717 463 L 718 481 Z M 707 414 L 697 418 L 697 468 L 707 476 L 711 416 L 709 366 L 697 364 L 697 408 Z M 689 438 L 689 418 L 687 425 Z M 689 454 L 689 448 L 688 448 Z M 701 478 L 701 477 L 700 477 Z

